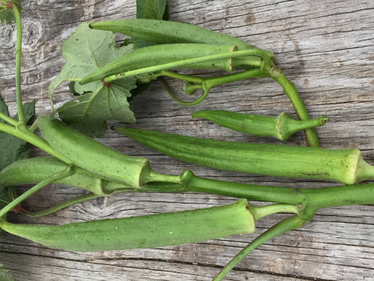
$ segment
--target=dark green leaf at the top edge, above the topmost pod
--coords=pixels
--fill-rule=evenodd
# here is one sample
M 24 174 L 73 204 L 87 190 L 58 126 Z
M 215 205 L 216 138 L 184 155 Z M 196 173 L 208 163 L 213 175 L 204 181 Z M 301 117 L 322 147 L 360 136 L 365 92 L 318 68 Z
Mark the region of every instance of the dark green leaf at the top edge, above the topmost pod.
M 136 0 L 136 18 L 163 20 L 166 0 Z

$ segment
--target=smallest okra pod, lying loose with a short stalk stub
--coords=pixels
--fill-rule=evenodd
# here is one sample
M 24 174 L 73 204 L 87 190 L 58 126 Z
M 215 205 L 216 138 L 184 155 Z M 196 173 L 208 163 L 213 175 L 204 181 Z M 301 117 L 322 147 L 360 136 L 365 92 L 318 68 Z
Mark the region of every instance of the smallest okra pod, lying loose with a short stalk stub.
M 276 137 L 284 141 L 290 139 L 295 132 L 325 125 L 327 121 L 326 116 L 300 121 L 293 119 L 290 114 L 285 112 L 277 117 L 269 117 L 223 110 L 197 111 L 192 114 L 192 117 L 206 118 L 238 132 L 263 137 Z

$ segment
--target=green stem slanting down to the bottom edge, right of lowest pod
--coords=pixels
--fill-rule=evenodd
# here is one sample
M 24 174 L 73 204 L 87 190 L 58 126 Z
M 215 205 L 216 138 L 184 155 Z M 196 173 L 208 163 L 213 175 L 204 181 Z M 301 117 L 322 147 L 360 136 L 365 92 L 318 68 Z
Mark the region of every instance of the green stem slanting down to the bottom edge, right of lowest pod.
M 237 263 L 239 263 L 239 261 L 241 261 L 250 252 L 252 252 L 253 249 L 256 249 L 257 247 L 265 243 L 267 240 L 285 233 L 286 231 L 299 228 L 306 222 L 307 221 L 300 219 L 300 217 L 298 216 L 293 216 L 279 222 L 275 226 L 272 226 L 272 228 L 269 228 L 267 231 L 258 236 L 258 238 L 253 240 L 251 244 L 242 249 L 241 252 L 239 252 L 239 254 L 234 257 L 234 259 L 229 261 L 229 263 L 227 263 L 227 265 L 220 271 L 220 273 L 213 279 L 213 281 L 223 280 L 223 278 L 232 270 L 232 268 L 234 268 L 234 266 L 236 266 Z

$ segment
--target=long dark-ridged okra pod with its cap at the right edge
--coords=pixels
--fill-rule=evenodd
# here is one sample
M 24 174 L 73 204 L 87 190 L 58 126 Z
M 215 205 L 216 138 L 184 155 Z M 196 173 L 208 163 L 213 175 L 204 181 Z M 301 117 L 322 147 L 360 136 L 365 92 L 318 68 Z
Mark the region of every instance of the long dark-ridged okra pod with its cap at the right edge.
M 363 160 L 358 149 L 227 142 L 133 128 L 115 130 L 168 156 L 220 170 L 343 184 L 374 178 L 374 167 Z

